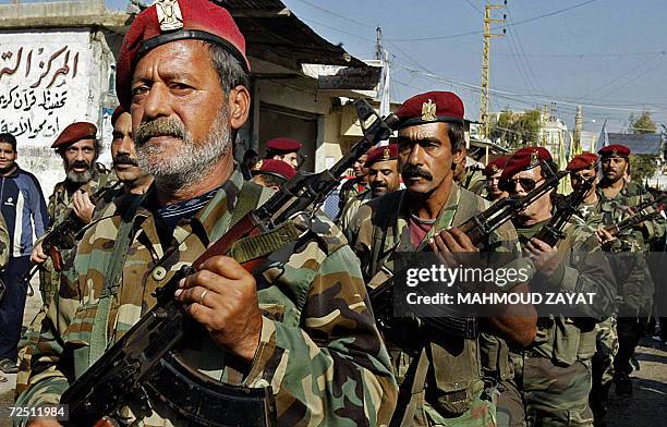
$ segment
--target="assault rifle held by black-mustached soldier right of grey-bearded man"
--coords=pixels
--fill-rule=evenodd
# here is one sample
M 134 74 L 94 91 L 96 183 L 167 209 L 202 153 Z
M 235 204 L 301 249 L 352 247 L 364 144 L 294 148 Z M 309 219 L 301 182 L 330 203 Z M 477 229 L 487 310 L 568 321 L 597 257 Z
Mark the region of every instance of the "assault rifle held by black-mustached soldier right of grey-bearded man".
M 547 172 L 547 176 L 542 185 L 535 187 L 523 197 L 504 198 L 457 228 L 464 232 L 476 246 L 486 240 L 498 227 L 516 217 L 533 202 L 547 194 L 553 188 L 556 188 L 558 182 L 568 174 L 565 171 L 553 172 L 546 162 L 542 162 L 542 168 Z M 424 251 L 429 251 L 428 246 L 426 246 Z M 395 276 L 376 289 L 369 291 L 377 322 L 387 330 L 390 330 L 396 321 L 393 319 L 395 286 L 392 283 Z M 419 293 L 421 289 L 422 288 L 415 288 L 415 291 Z M 458 313 L 452 313 L 451 316 L 445 316 L 442 315 L 442 312 L 446 309 L 445 306 L 437 306 L 436 308 L 430 307 L 429 305 L 420 307 L 420 319 L 425 325 L 430 326 L 435 330 L 447 331 L 453 335 L 466 339 L 475 339 L 478 335 L 478 320 L 476 317 Z

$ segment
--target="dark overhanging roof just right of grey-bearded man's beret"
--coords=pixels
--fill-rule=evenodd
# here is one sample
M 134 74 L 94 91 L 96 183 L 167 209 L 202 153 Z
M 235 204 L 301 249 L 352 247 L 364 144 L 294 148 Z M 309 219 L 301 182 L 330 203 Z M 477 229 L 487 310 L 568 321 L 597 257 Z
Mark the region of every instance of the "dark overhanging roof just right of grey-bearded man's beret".
M 302 63 L 367 65 L 320 37 L 279 0 L 214 0 L 228 8 L 252 57 L 301 71 Z

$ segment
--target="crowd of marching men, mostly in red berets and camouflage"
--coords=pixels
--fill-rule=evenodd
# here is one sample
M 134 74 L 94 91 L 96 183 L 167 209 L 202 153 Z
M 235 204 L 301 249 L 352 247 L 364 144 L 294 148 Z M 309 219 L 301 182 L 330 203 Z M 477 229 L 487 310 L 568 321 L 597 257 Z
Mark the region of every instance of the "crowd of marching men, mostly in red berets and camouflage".
M 96 161 L 96 126 L 71 124 L 52 145 L 66 178 L 47 207 L 15 163 L 15 139 L 0 135 L 0 369 L 19 370 L 17 406 L 58 404 L 156 304 L 157 289 L 296 175 L 294 139 L 267 142 L 259 161 L 252 150 L 239 164 L 232 157 L 250 114 L 248 73 L 226 9 L 158 1 L 136 16 L 119 56 L 113 171 Z M 595 183 L 554 245 L 537 236 L 563 205 L 555 190 L 477 241 L 462 224 L 550 180 L 551 154 L 527 145 L 482 170 L 466 166 L 464 106 L 450 91 L 416 95 L 396 115 L 398 137 L 363 155 L 342 183 L 338 218 L 313 210 L 298 237 L 251 271 L 217 255 L 181 280 L 173 297 L 201 326 L 180 344 L 181 359 L 211 380 L 268 388 L 278 425 L 603 426 L 613 383 L 632 395 L 631 359 L 659 290 L 644 254 L 665 245 L 662 217 L 620 234 L 611 228 L 653 197 L 626 173 L 630 150 L 571 159 L 574 191 Z M 594 293 L 595 304 L 572 316 L 499 304 L 474 319 L 474 334 L 419 316 L 376 321 L 386 308 L 376 291 L 397 276 L 401 254 L 416 252 L 452 268 L 461 253 L 492 267 L 504 255 L 532 271 L 504 292 Z M 33 266 L 44 306 L 19 343 L 22 278 Z M 128 398 L 104 415 L 123 425 L 189 423 L 155 393 Z

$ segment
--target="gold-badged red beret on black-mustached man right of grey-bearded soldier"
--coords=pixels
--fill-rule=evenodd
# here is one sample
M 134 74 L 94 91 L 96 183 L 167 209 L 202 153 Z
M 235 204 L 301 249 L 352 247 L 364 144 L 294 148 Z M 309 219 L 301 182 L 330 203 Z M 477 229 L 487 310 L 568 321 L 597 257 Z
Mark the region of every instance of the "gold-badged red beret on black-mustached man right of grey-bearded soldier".
M 408 99 L 396 111 L 399 127 L 433 122 L 461 123 L 465 109 L 463 101 L 451 91 L 427 91 Z

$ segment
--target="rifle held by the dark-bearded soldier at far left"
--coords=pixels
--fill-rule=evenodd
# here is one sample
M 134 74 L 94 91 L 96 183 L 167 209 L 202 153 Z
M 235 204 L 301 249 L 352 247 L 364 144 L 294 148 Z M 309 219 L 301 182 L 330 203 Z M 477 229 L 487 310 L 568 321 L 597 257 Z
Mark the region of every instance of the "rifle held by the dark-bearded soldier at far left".
M 97 202 L 104 199 L 107 194 L 119 188 L 121 184 L 121 181 L 117 181 L 112 185 L 97 190 L 90 196 L 90 202 L 94 205 L 97 204 Z M 74 213 L 72 208 L 69 208 L 65 219 L 56 224 L 56 227 L 53 227 L 53 229 L 41 240 L 41 249 L 51 258 L 56 271 L 62 270 L 62 251 L 74 247 L 76 244 L 76 234 L 84 227 L 86 227 L 86 223 Z M 31 279 L 35 276 L 41 264 L 31 261 L 31 268 L 23 274 L 21 282 L 28 285 Z

